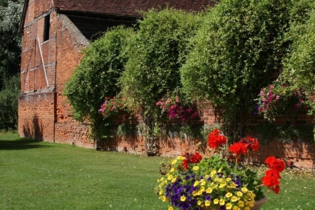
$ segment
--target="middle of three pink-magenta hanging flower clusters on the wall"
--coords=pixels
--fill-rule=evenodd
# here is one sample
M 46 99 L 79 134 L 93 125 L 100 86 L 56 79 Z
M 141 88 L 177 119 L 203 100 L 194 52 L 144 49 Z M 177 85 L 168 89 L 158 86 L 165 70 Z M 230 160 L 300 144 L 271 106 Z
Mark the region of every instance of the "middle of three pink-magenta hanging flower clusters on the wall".
M 194 105 L 183 105 L 178 95 L 161 98 L 156 105 L 161 108 L 162 114 L 167 113 L 171 120 L 178 119 L 181 122 L 187 122 L 198 115 Z

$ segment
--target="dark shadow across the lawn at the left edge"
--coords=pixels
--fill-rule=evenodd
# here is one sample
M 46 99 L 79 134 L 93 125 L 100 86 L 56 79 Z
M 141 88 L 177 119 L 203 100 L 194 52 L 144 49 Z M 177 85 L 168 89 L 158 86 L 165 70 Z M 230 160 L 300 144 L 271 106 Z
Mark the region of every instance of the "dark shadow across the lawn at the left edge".
M 36 149 L 36 148 L 46 148 L 49 145 L 37 144 L 40 141 L 21 138 L 18 140 L 0 140 L 0 150 L 26 150 L 26 149 Z

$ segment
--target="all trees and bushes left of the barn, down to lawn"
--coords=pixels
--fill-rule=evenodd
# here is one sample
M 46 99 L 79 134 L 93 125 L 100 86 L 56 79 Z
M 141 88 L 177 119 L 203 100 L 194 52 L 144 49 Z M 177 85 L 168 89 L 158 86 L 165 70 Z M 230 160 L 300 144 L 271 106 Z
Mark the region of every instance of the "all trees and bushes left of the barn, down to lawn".
M 0 1 L 0 129 L 15 129 L 20 93 L 21 35 L 18 33 L 23 0 Z

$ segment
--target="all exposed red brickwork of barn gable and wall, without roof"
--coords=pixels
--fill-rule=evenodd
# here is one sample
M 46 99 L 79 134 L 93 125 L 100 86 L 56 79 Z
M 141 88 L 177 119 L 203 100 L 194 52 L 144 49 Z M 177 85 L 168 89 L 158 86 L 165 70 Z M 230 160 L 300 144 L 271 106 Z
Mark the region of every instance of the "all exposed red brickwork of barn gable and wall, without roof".
M 89 140 L 88 127 L 72 119 L 71 107 L 62 94 L 66 81 L 80 63 L 82 50 L 89 45 L 89 41 L 67 16 L 60 13 L 64 8 L 56 8 L 52 0 L 27 2 L 22 27 L 19 134 L 44 141 L 95 148 L 95 142 Z M 45 36 L 48 32 L 45 21 L 47 18 L 48 39 Z M 217 119 L 214 109 L 208 103 L 199 103 L 199 108 L 200 120 L 193 124 L 215 124 Z M 249 123 L 252 125 L 264 122 L 262 117 L 250 119 Z M 287 117 L 282 116 L 276 119 L 276 123 L 285 125 L 287 120 Z M 302 125 L 314 125 L 314 117 L 306 115 L 306 110 L 297 113 L 295 120 Z M 183 141 L 170 138 L 168 141 L 158 142 L 156 146 L 158 152 L 164 156 L 193 153 L 199 149 L 195 146 L 195 139 Z M 145 153 L 145 138 L 115 137 L 106 142 L 103 149 L 142 154 Z M 315 146 L 272 142 L 261 145 L 258 156 L 253 161 L 261 162 L 269 155 L 283 157 L 302 169 L 313 169 Z

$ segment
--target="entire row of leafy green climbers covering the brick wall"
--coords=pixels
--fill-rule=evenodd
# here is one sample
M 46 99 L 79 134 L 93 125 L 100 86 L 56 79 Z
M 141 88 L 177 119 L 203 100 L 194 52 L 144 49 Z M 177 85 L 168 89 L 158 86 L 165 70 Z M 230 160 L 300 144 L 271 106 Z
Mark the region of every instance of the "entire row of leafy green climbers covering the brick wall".
M 200 14 L 151 10 L 135 32 L 119 27 L 95 41 L 64 94 L 75 119 L 87 119 L 96 133 L 108 124 L 97 111 L 103 97 L 123 96 L 147 137 L 154 135 L 156 103 L 165 95 L 209 100 L 233 137 L 260 89 L 275 79 L 271 75 L 285 72 L 288 81 L 314 92 L 312 5 L 314 0 L 221 0 Z

